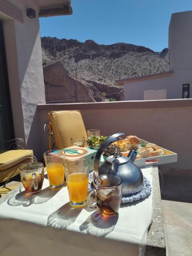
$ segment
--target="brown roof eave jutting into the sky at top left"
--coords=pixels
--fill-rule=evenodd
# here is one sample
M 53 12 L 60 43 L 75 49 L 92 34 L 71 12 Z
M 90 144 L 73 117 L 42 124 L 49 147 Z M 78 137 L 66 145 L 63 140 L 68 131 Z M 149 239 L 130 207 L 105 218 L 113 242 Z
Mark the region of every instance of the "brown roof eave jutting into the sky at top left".
M 33 0 L 39 7 L 39 17 L 70 15 L 71 0 Z

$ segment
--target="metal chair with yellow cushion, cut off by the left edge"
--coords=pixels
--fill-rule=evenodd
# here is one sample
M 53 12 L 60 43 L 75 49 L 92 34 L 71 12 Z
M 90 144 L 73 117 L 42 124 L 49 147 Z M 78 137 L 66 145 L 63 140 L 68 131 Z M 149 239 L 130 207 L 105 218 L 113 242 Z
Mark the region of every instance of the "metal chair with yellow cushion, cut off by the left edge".
M 23 141 L 22 139 L 16 140 L 19 142 Z M 11 146 L 13 146 L 13 148 L 23 148 L 22 145 L 16 143 L 12 143 Z M 9 150 L 8 148 L 8 151 L 0 154 L 0 183 L 4 183 L 3 187 L 6 187 L 6 184 L 11 178 L 19 174 L 19 166 L 21 164 L 31 161 L 37 161 L 37 159 L 33 156 L 32 150 Z

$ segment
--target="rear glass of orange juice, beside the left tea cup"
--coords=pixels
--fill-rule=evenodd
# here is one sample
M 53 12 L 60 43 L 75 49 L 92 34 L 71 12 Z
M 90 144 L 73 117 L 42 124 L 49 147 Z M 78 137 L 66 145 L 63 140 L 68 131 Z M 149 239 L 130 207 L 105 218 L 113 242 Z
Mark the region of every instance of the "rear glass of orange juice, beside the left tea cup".
M 52 188 L 63 186 L 65 172 L 63 163 L 66 152 L 64 150 L 51 150 L 44 153 L 49 185 Z

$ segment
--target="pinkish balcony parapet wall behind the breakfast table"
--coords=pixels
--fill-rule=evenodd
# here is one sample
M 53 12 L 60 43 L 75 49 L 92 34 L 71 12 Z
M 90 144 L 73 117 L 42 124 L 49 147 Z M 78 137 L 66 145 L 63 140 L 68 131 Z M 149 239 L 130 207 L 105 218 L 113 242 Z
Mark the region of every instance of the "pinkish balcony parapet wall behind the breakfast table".
M 37 115 L 40 143 L 35 143 L 35 148 L 33 146 L 38 158 L 48 149 L 47 136 L 42 132 L 48 113 L 61 110 L 80 110 L 86 129 L 100 129 L 102 135 L 116 132 L 137 135 L 178 153 L 178 162 L 162 166 L 164 170 L 192 170 L 192 99 L 39 104 Z

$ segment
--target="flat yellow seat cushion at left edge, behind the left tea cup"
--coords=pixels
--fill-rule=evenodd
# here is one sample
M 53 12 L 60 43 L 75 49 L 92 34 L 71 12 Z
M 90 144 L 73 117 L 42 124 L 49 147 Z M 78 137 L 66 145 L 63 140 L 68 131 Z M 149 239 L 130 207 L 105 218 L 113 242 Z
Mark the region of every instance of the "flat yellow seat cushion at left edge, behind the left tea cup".
M 0 154 L 0 170 L 8 169 L 17 163 L 20 163 L 21 161 L 23 161 L 23 157 L 29 155 L 33 155 L 32 150 L 9 150 L 7 152 Z

